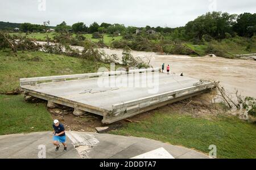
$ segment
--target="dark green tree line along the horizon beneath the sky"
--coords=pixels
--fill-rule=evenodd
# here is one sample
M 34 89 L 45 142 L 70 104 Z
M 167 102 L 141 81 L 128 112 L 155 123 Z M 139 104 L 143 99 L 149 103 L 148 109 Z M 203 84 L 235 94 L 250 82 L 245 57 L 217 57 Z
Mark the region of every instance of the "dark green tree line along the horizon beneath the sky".
M 47 25 L 23 23 L 20 24 L 20 29 L 23 32 L 43 32 L 46 31 Z M 225 39 L 226 37 L 242 36 L 252 37 L 256 33 L 256 13 L 248 12 L 236 15 L 228 14 L 227 12 L 208 12 L 201 15 L 195 20 L 188 22 L 184 27 L 178 28 L 163 28 L 150 27 L 147 25 L 143 28 L 125 27 L 123 24 L 109 24 L 94 22 L 87 26 L 83 22 L 67 25 L 62 22 L 55 27 L 56 32 L 74 33 L 109 33 L 127 35 L 135 33 L 136 29 L 147 31 L 153 29 L 162 35 L 174 37 L 179 40 L 202 40 L 202 39 Z

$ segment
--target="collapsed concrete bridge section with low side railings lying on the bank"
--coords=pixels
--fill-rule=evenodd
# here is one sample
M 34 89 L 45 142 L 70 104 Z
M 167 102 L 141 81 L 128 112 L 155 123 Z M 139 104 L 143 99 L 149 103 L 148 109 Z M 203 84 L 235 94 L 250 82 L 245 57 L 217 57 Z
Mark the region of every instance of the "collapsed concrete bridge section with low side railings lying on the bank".
M 118 83 L 117 83 L 118 82 Z M 104 124 L 135 116 L 204 93 L 216 82 L 167 75 L 160 69 L 110 71 L 20 79 L 26 95 L 103 116 Z

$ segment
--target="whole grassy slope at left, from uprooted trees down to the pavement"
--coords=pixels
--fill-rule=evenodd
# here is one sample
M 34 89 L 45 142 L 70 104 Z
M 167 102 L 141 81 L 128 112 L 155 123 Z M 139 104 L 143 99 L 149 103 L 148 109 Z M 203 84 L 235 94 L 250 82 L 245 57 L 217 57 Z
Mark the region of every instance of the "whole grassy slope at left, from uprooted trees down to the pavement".
M 0 92 L 19 87 L 19 78 L 96 72 L 109 65 L 43 52 L 0 51 Z M 30 104 L 22 95 L 0 95 L 0 135 L 51 130 L 46 104 Z M 31 128 L 34 127 L 34 128 Z

